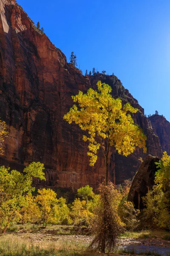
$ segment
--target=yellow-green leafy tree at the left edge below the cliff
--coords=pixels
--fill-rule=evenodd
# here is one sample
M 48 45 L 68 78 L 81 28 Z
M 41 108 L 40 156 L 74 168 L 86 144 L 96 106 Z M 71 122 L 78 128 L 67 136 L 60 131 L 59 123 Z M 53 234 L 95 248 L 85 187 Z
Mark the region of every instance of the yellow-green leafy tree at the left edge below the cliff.
M 22 207 L 26 205 L 26 196 L 35 190 L 33 177 L 45 180 L 40 162 L 31 163 L 20 173 L 0 167 L 0 233 L 5 233 L 11 221 L 18 221 Z

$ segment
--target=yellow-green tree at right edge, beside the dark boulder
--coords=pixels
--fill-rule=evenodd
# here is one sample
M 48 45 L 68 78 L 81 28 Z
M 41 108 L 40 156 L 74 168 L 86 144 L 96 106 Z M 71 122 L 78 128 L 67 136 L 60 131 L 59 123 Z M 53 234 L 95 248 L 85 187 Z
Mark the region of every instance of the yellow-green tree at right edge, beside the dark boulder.
M 146 208 L 144 221 L 151 228 L 161 227 L 170 230 L 170 156 L 164 151 L 155 173 L 155 184 L 143 198 Z

